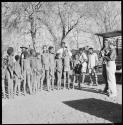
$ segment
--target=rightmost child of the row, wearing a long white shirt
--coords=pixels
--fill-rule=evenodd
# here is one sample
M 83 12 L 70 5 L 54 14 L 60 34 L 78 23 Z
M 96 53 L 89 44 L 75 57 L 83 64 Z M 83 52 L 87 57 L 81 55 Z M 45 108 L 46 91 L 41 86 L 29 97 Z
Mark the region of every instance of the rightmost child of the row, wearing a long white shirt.
M 95 76 L 95 84 L 98 85 L 98 81 L 97 81 L 97 74 L 95 71 L 95 67 L 98 64 L 98 56 L 96 53 L 93 52 L 93 48 L 89 48 L 89 55 L 88 55 L 88 69 L 89 69 L 89 76 L 91 79 L 91 84 L 93 85 L 93 80 L 92 80 L 92 76 Z

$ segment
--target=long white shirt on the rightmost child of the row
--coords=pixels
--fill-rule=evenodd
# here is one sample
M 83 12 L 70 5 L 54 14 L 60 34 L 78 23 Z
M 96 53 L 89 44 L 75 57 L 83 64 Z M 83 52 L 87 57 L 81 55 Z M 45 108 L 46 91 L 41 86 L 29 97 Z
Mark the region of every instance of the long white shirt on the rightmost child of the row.
M 96 53 L 89 54 L 88 56 L 88 68 L 94 68 L 98 63 L 98 56 Z

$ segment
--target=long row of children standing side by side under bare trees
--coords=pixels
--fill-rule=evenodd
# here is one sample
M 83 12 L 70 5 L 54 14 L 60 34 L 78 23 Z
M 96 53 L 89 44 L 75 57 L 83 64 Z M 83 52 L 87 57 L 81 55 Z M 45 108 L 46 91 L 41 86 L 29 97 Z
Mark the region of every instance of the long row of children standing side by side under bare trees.
M 44 81 L 48 91 L 55 89 L 55 83 L 58 90 L 62 89 L 62 79 L 63 88 L 70 89 L 70 83 L 73 83 L 74 89 L 76 82 L 84 83 L 87 69 L 91 83 L 93 83 L 92 75 L 94 74 L 95 83 L 98 85 L 95 71 L 98 56 L 93 53 L 93 48 L 89 48 L 88 53 L 80 48 L 79 53 L 72 57 L 69 56 L 67 48 L 61 56 L 60 53 L 55 54 L 53 46 L 47 48 L 46 45 L 43 46 L 41 54 L 34 49 L 25 49 L 21 55 L 14 56 L 12 47 L 8 48 L 7 54 L 6 60 L 2 59 L 3 98 L 7 97 L 7 93 L 8 98 L 14 98 L 16 94 L 21 95 L 21 93 L 35 94 L 43 90 Z M 82 76 L 82 82 L 80 76 Z

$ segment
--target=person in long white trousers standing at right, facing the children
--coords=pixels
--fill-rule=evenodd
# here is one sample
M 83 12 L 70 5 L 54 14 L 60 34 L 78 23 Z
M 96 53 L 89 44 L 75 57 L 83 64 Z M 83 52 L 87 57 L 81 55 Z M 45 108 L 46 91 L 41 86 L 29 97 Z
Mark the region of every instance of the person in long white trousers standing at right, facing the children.
M 108 82 L 108 95 L 109 97 L 116 97 L 117 96 L 117 87 L 116 87 L 116 77 L 115 77 L 115 71 L 116 71 L 116 50 L 115 45 L 113 42 L 109 44 L 110 52 L 107 56 L 104 58 L 107 60 L 106 64 L 106 72 L 107 72 L 107 82 Z

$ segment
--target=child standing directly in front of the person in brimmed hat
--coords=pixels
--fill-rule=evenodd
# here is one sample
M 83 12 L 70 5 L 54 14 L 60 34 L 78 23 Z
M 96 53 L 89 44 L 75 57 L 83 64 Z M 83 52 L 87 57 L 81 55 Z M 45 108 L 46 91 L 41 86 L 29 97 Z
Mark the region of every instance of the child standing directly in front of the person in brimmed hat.
M 26 83 L 29 87 L 30 94 L 32 94 L 32 86 L 31 86 L 31 66 L 30 59 L 27 51 L 24 51 L 24 59 L 23 59 L 23 72 L 24 72 L 24 95 L 26 95 Z

